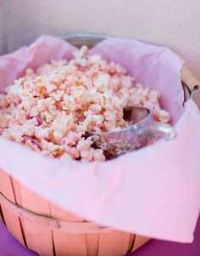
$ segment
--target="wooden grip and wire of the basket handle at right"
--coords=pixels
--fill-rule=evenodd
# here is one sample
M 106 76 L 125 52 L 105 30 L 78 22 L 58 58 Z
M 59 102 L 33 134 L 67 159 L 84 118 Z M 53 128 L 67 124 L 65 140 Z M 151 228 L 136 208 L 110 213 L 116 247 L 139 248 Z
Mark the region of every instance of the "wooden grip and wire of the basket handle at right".
M 181 81 L 185 92 L 185 101 L 194 100 L 200 110 L 200 82 L 186 64 L 181 67 Z

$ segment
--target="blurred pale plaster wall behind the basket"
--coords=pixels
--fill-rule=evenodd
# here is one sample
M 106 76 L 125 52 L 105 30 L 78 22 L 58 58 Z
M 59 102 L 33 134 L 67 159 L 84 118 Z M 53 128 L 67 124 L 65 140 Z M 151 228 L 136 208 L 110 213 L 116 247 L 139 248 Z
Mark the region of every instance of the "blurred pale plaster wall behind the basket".
M 81 32 L 167 46 L 200 77 L 199 0 L 0 0 L 0 54 L 41 34 Z

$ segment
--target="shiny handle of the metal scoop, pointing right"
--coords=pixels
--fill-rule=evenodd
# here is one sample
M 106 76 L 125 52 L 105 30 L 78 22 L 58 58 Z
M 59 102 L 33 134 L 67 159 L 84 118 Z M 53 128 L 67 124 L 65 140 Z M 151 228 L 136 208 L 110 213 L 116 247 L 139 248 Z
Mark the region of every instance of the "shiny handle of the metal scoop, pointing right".
M 161 139 L 166 140 L 174 139 L 176 136 L 175 128 L 173 128 L 169 123 L 164 122 L 154 122 L 147 128 L 142 128 L 138 132 L 138 136 L 142 139 Z

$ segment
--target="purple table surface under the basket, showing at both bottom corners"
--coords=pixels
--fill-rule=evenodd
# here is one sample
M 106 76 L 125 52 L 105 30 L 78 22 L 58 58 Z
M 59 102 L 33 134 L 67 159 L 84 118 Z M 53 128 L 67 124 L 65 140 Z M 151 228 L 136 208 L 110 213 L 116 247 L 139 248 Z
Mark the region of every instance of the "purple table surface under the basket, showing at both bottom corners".
M 200 218 L 197 222 L 192 244 L 152 240 L 130 256 L 199 256 L 200 255 Z M 6 230 L 0 220 L 0 256 L 38 256 L 21 246 Z

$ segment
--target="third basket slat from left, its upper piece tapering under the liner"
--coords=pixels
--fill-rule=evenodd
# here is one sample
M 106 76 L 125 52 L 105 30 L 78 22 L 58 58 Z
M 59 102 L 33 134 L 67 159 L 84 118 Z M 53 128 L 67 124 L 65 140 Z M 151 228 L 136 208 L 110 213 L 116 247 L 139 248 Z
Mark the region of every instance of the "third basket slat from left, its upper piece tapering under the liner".
M 53 218 L 83 222 L 84 220 L 68 213 L 66 210 L 51 204 L 51 214 Z M 86 236 L 83 234 L 69 234 L 62 231 L 53 230 L 53 242 L 55 253 L 58 256 L 86 256 Z

